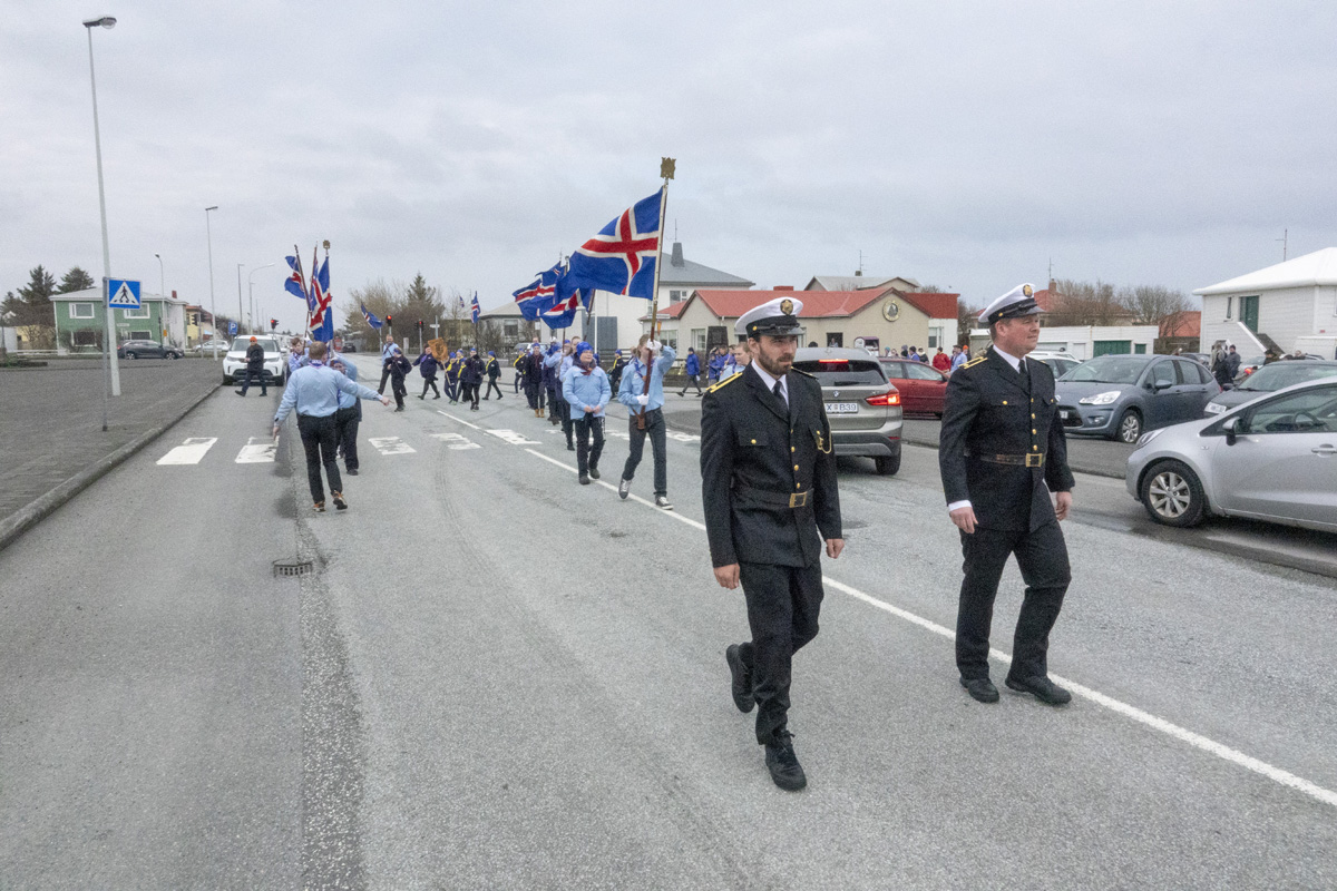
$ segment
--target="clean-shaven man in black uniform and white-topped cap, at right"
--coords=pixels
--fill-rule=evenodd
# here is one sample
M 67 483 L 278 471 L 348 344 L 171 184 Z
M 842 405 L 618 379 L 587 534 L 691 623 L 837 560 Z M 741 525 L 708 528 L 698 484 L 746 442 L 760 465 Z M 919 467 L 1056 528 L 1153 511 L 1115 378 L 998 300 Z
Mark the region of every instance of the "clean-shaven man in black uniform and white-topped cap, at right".
M 1029 285 L 1019 285 L 980 313 L 993 346 L 948 378 L 939 466 L 965 558 L 956 616 L 961 687 L 981 703 L 999 700 L 989 680 L 989 625 L 1003 566 L 1016 554 L 1025 597 L 1005 683 L 1063 705 L 1072 695 L 1050 680 L 1047 653 L 1071 581 L 1059 521 L 1072 508 L 1072 472 L 1054 375 L 1025 358 L 1040 337 L 1031 294 Z

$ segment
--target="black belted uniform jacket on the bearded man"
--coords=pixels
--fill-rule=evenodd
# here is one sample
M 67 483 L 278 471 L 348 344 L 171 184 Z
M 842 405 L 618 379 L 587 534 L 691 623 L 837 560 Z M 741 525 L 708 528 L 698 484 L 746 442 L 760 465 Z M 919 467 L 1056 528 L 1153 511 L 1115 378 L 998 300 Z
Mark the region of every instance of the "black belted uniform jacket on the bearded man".
M 790 371 L 789 407 L 747 366 L 701 407 L 701 489 L 714 566 L 809 566 L 842 538 L 836 454 L 817 379 Z M 806 505 L 773 504 L 789 496 Z

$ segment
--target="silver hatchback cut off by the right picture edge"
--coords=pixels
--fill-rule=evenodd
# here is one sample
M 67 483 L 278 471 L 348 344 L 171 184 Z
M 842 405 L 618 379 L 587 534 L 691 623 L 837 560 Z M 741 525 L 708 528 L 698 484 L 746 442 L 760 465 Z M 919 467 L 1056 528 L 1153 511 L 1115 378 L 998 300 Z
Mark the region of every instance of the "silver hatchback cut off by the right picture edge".
M 1219 514 L 1337 532 L 1337 378 L 1151 430 L 1128 456 L 1124 482 L 1170 526 Z

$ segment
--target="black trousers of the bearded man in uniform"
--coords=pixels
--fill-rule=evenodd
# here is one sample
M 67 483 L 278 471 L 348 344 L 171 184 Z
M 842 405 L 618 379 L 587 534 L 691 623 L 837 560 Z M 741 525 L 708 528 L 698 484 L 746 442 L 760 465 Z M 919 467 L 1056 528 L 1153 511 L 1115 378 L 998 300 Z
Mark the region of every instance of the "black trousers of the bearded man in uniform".
M 765 745 L 789 723 L 794 653 L 817 637 L 822 565 L 738 564 L 753 639 L 739 647 L 757 697 L 757 743 Z

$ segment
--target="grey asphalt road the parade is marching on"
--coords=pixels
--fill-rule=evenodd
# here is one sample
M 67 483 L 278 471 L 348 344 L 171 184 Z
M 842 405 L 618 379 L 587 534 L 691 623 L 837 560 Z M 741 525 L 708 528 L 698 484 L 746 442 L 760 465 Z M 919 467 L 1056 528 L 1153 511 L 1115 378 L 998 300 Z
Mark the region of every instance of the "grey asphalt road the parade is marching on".
M 0 552 L 4 884 L 1337 884 L 1329 578 L 1079 518 L 1051 648 L 1079 695 L 985 707 L 944 636 L 936 454 L 842 461 L 786 793 L 729 696 L 746 620 L 690 434 L 663 513 L 648 458 L 626 502 L 578 486 L 509 393 L 368 403 L 352 509 L 312 514 L 291 423 L 237 464 L 274 402 L 217 393 Z M 294 556 L 316 572 L 270 576 Z M 1009 569 L 996 677 L 1020 590 Z

